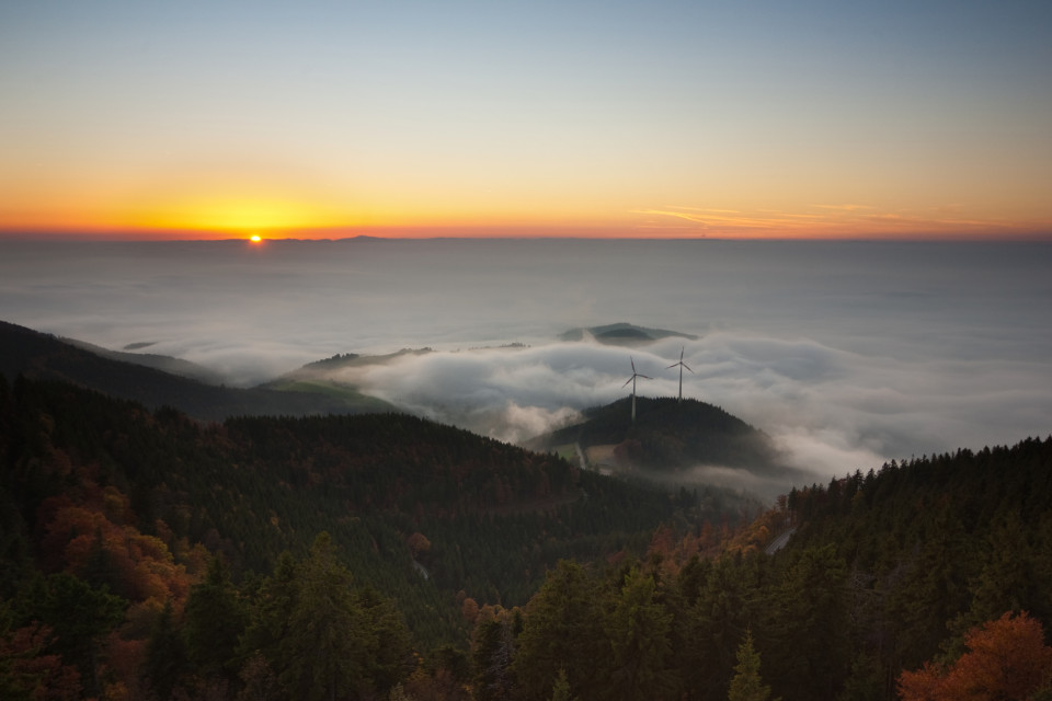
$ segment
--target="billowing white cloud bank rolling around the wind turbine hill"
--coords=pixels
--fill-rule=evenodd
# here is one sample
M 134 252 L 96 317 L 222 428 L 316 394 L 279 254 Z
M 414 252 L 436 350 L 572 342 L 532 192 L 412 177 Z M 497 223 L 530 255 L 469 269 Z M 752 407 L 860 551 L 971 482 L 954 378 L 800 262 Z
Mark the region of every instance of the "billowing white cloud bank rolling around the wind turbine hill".
M 770 434 L 797 467 L 819 475 L 884 460 L 1043 435 L 1052 398 L 1042 364 L 894 360 L 807 340 L 716 332 L 645 348 L 565 343 L 526 349 L 435 352 L 342 371 L 333 379 L 433 418 L 504 440 L 565 425 L 574 413 L 629 393 L 629 357 L 652 380 L 645 397 L 684 394 Z M 1015 438 L 1006 438 L 1011 436 Z

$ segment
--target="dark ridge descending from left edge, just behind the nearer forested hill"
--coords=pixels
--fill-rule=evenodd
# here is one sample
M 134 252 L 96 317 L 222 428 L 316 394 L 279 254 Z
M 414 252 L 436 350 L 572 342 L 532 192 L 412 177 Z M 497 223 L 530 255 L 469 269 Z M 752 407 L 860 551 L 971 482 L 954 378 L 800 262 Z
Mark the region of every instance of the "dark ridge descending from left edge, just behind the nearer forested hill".
M 123 354 L 122 357 L 132 354 Z M 156 357 L 156 356 L 155 356 Z M 172 364 L 174 358 L 170 359 Z M 350 391 L 340 394 L 236 389 L 207 384 L 112 357 L 104 357 L 49 334 L 0 321 L 0 375 L 61 380 L 157 409 L 174 406 L 203 421 L 238 415 L 307 415 L 391 409 L 380 400 Z

